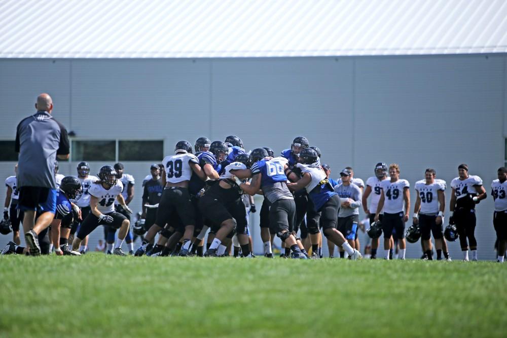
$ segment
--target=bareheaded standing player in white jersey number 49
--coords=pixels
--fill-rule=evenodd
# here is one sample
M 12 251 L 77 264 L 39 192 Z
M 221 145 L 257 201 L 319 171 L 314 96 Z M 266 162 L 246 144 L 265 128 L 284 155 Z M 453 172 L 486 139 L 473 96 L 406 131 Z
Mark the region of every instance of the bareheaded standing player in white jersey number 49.
M 375 212 L 375 221 L 380 219 L 380 212 L 384 209 L 382 219 L 382 231 L 384 232 L 385 259 L 390 259 L 391 235 L 393 229 L 400 243 L 400 259 L 405 259 L 405 222 L 409 219 L 410 212 L 410 183 L 406 179 L 400 179 L 400 166 L 393 163 L 389 165 L 389 180 L 380 182 L 380 200 Z M 405 212 L 403 210 L 405 202 Z

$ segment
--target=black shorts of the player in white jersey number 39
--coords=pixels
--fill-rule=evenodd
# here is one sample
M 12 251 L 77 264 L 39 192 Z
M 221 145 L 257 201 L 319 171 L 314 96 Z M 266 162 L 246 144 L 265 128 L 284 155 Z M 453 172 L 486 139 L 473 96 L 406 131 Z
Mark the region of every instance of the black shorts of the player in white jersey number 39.
M 184 226 L 195 225 L 195 210 L 190 199 L 189 190 L 182 187 L 165 187 L 157 210 L 155 223 L 164 227 L 173 221 L 175 215 L 181 219 Z

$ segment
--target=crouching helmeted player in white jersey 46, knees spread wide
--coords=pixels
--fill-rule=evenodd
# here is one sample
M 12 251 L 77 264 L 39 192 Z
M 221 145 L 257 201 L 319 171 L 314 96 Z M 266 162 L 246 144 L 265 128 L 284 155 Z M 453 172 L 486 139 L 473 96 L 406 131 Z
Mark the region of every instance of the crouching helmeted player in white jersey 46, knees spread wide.
M 122 244 L 127 235 L 130 221 L 119 212 L 115 211 L 115 200 L 125 209 L 132 213 L 132 210 L 125 204 L 122 196 L 123 184 L 117 178 L 117 173 L 112 166 L 103 166 L 98 173 L 100 180 L 91 184 L 88 193 L 90 194 L 91 213 L 83 220 L 78 235 L 72 243 L 74 251 L 79 249 L 81 241 L 99 225 L 107 225 L 116 229 L 118 239 L 115 243 L 113 253 L 124 256 Z

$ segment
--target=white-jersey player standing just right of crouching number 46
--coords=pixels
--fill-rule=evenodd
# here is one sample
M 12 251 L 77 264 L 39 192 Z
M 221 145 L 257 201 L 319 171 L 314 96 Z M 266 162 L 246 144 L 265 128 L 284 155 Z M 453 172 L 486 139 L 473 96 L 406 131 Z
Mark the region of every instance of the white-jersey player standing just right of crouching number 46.
M 134 184 L 135 184 L 134 177 L 130 174 L 126 174 L 123 172 L 125 170 L 123 163 L 115 163 L 114 168 L 115 168 L 115 171 L 117 172 L 118 179 L 123 184 L 122 195 L 123 195 L 123 199 L 125 200 L 125 205 L 129 205 L 129 203 L 134 198 Z M 124 210 L 123 207 L 118 203 L 118 201 L 115 201 L 115 209 L 117 212 L 124 215 L 130 222 L 130 212 Z M 113 244 L 115 243 L 115 233 L 116 233 L 116 229 L 109 227 L 109 231 L 107 233 L 107 243 L 108 243 L 107 250 L 111 250 L 113 248 Z M 127 236 L 125 237 L 125 242 L 127 243 L 128 247 L 129 247 L 129 254 L 133 255 L 134 254 L 134 239 L 133 239 L 132 232 L 130 231 L 130 229 L 127 232 Z

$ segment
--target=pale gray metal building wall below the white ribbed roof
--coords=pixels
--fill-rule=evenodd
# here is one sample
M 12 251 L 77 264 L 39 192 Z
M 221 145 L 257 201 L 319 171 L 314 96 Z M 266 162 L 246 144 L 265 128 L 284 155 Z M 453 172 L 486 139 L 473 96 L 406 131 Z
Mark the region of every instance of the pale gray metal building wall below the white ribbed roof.
M 2 59 L 0 139 L 14 139 L 35 97 L 48 92 L 53 115 L 78 139 L 164 139 L 168 154 L 179 139 L 237 134 L 247 148 L 279 152 L 301 134 L 321 149 L 334 176 L 351 165 L 366 180 L 383 161 L 399 163 L 411 187 L 427 167 L 449 184 L 465 162 L 489 192 L 504 161 L 505 62 L 505 55 Z M 60 172 L 75 174 L 76 164 L 60 163 Z M 93 173 L 103 163 L 90 164 Z M 0 162 L 0 177 L 13 165 Z M 125 166 L 137 180 L 132 203 L 140 209 L 149 163 Z M 492 200 L 477 210 L 480 258 L 492 259 Z M 459 245 L 450 247 L 459 258 Z M 419 255 L 418 244 L 408 248 L 409 257 Z

